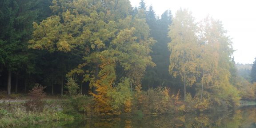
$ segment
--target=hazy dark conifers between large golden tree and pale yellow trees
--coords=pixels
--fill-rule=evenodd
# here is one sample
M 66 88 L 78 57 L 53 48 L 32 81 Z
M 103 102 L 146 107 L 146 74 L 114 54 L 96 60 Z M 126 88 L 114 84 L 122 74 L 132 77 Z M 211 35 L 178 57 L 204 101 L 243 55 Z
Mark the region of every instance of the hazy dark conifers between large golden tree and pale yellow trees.
M 176 86 L 180 85 L 179 79 L 174 79 L 168 72 L 170 51 L 168 50 L 168 43 L 171 39 L 167 37 L 168 26 L 172 23 L 171 11 L 165 11 L 161 19 L 156 17 L 153 7 L 150 6 L 146 12 L 146 20 L 150 31 L 150 36 L 157 42 L 152 46 L 152 61 L 156 64 L 155 67 L 147 67 L 144 79 L 142 81 L 142 88 L 149 89 L 157 88 L 158 86 L 168 86 L 172 91 L 177 91 Z

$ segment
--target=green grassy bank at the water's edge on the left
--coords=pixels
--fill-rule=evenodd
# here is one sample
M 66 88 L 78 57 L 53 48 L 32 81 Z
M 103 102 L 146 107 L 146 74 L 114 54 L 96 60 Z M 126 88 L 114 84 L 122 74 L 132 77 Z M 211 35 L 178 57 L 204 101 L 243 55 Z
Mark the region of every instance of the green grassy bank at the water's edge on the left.
M 64 114 L 60 108 L 45 101 L 41 108 L 28 109 L 26 103 L 1 103 L 0 127 L 37 124 L 58 120 L 74 120 L 74 116 Z M 58 105 L 57 105 L 58 106 Z

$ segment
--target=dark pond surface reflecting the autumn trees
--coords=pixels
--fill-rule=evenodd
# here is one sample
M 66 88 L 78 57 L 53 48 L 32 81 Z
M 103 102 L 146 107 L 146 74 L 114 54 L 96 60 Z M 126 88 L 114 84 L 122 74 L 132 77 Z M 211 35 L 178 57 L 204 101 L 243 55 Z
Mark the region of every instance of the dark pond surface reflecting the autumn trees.
M 19 128 L 256 128 L 256 106 L 182 116 L 133 116 L 60 121 Z

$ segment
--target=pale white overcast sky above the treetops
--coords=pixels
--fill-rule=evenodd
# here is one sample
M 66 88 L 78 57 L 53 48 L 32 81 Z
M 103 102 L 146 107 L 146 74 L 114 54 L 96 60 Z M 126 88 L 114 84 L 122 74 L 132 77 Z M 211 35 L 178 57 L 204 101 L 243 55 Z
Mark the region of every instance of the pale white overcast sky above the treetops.
M 130 0 L 133 7 L 140 0 Z M 153 6 L 157 16 L 165 10 L 172 15 L 180 8 L 188 8 L 197 21 L 211 16 L 223 23 L 233 42 L 234 60 L 240 64 L 252 64 L 256 57 L 256 0 L 144 0 Z

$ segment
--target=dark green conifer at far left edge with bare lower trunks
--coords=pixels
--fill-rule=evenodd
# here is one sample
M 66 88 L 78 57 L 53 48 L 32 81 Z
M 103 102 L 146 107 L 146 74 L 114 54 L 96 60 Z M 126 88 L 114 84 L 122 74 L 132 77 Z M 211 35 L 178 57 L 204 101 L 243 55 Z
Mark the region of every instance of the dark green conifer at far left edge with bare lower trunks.
M 8 95 L 11 93 L 12 74 L 18 78 L 21 70 L 31 66 L 27 41 L 31 37 L 32 22 L 36 21 L 40 0 L 0 1 L 0 65 L 8 72 Z

